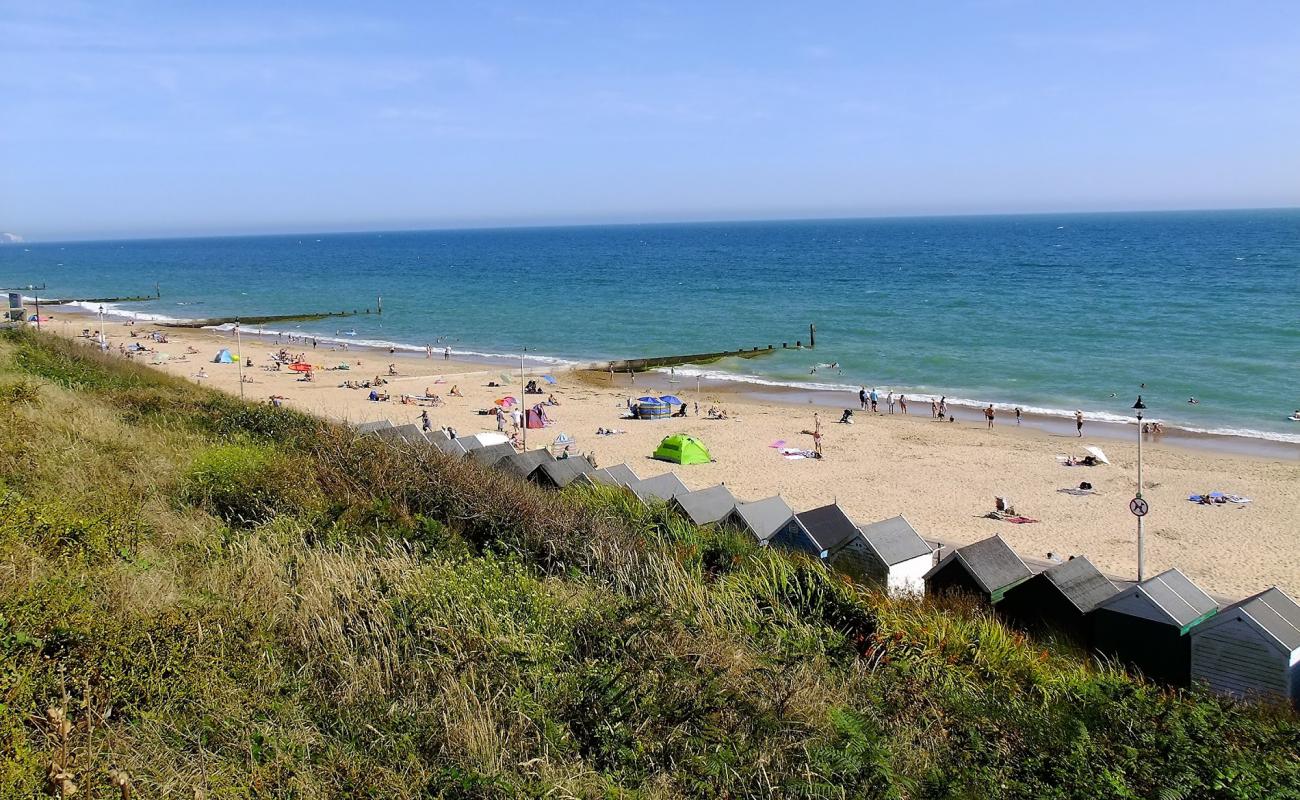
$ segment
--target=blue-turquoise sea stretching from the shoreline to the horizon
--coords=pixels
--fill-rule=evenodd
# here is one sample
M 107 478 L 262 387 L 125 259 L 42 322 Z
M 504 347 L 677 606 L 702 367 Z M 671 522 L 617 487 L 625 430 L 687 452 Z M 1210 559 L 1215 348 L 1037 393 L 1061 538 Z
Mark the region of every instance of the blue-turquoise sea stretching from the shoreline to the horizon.
M 1141 393 L 1170 424 L 1300 442 L 1300 209 L 26 243 L 0 284 L 159 284 L 117 311 L 166 317 L 382 295 L 281 328 L 566 360 L 780 349 L 815 323 L 816 350 L 705 369 L 1095 419 Z

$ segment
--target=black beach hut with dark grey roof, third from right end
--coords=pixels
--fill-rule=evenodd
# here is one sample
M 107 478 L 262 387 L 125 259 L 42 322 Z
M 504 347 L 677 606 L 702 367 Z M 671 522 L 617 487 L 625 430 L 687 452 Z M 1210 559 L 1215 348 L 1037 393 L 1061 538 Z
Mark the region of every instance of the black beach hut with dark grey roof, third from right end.
M 1088 614 L 1118 592 L 1101 570 L 1076 555 L 1008 589 L 997 613 L 1018 627 L 1052 631 L 1084 644 Z

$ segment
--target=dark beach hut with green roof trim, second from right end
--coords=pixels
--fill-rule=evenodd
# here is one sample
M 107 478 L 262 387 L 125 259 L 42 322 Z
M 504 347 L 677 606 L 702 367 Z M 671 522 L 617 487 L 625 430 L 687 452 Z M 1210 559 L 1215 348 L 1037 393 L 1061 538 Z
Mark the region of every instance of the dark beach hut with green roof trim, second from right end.
M 1178 570 L 1167 570 L 1097 604 L 1088 617 L 1092 648 L 1153 680 L 1187 686 L 1188 632 L 1218 604 Z

